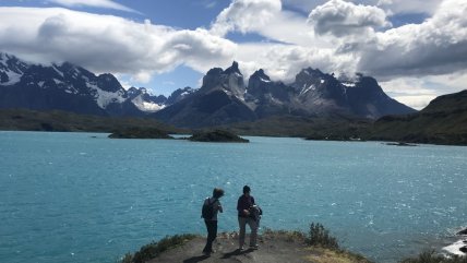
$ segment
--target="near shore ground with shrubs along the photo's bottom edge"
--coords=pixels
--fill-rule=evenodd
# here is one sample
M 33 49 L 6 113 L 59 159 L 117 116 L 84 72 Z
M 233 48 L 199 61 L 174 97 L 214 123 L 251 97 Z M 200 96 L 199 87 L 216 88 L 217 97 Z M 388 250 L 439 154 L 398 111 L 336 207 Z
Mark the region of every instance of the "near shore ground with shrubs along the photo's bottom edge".
M 238 251 L 238 234 L 223 232 L 216 240 L 217 251 L 202 255 L 205 237 L 200 235 L 167 236 L 159 241 L 143 246 L 134 253 L 127 253 L 119 263 L 159 262 L 243 262 L 243 263 L 371 263 L 364 255 L 342 249 L 337 238 L 321 224 L 312 223 L 308 232 L 264 229 L 259 236 L 260 249 Z M 467 258 L 436 254 L 423 251 L 399 263 L 467 263 Z

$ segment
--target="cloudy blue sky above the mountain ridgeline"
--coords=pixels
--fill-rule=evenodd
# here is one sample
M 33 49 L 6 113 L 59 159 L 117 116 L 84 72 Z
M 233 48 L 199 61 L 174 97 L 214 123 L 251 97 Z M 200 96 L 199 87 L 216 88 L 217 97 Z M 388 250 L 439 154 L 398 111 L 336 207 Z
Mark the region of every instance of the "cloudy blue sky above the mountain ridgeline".
M 422 108 L 465 88 L 465 13 L 467 0 L 0 0 L 0 51 L 164 95 L 232 60 L 285 82 L 363 72 Z

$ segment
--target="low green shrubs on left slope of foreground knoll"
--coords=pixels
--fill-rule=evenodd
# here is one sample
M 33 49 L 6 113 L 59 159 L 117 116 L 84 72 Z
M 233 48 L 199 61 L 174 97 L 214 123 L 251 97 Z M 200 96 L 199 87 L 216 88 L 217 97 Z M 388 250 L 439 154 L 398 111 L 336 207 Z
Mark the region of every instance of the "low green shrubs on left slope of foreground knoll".
M 152 242 L 149 244 L 143 246 L 140 251 L 134 253 L 134 255 L 130 253 L 125 254 L 121 263 L 144 263 L 151 259 L 156 258 L 164 251 L 179 247 L 195 237 L 195 235 L 189 234 L 165 237 L 158 242 Z

